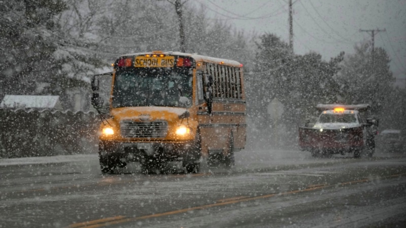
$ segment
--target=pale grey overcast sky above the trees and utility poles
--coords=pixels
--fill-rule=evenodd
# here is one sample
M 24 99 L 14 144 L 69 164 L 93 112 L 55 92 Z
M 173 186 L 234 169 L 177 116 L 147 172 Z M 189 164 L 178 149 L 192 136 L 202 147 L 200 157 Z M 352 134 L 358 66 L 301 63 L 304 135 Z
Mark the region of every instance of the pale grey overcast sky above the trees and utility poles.
M 204 5 L 208 16 L 257 34 L 265 32 L 289 42 L 289 0 L 192 0 Z M 390 69 L 397 84 L 406 83 L 406 0 L 292 0 L 293 49 L 296 54 L 315 51 L 329 60 L 354 44 L 371 41 L 391 58 Z

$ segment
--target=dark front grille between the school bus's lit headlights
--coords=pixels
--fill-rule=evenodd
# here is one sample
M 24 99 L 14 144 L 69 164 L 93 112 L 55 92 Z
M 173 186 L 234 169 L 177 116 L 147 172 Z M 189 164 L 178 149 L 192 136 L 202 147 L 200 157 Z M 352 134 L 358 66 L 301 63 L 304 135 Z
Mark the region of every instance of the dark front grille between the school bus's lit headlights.
M 168 131 L 168 123 L 166 121 L 122 121 L 120 130 L 124 138 L 163 138 Z

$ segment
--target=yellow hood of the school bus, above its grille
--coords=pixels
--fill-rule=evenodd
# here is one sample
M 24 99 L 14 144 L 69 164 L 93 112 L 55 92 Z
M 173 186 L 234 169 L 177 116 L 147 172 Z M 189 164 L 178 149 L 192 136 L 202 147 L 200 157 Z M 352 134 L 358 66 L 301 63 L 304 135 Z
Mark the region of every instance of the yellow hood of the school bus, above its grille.
M 179 120 L 187 112 L 181 107 L 121 107 L 111 110 L 111 115 L 118 122 L 123 120 L 154 121 L 166 120 L 169 122 Z

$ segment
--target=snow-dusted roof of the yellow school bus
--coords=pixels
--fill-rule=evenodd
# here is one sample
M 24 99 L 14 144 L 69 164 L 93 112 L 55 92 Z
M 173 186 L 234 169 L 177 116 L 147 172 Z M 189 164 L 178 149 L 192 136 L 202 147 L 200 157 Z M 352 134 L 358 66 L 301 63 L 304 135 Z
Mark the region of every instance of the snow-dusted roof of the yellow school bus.
M 120 57 L 146 55 L 146 54 L 181 55 L 181 56 L 192 57 L 196 62 L 221 63 L 223 65 L 230 65 L 230 66 L 237 66 L 237 67 L 242 66 L 242 64 L 240 62 L 235 61 L 235 60 L 221 59 L 221 58 L 215 58 L 215 57 L 210 57 L 210 56 L 198 55 L 195 53 L 190 54 L 190 53 L 184 53 L 184 52 L 161 52 L 161 51 L 140 52 L 140 53 L 125 54 Z

